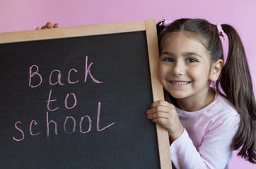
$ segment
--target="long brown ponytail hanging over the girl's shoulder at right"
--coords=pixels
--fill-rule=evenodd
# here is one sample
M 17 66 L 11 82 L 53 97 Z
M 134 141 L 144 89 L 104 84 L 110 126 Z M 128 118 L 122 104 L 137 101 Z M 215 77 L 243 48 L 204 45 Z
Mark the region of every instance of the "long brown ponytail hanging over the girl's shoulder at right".
M 245 49 L 238 33 L 230 25 L 221 25 L 228 36 L 229 47 L 226 64 L 223 66 L 216 88 L 225 92 L 226 97 L 233 103 L 240 115 L 238 132 L 233 138 L 232 147 L 250 163 L 256 163 L 256 105 L 252 80 Z

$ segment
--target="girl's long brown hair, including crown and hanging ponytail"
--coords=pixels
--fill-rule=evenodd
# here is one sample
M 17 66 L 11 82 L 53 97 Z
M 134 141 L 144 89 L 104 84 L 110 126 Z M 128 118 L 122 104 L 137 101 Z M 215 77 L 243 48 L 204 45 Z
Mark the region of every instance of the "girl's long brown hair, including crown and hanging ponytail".
M 240 125 L 231 147 L 239 149 L 238 156 L 242 156 L 250 163 L 256 163 L 256 104 L 245 49 L 238 33 L 231 25 L 223 24 L 221 27 L 228 36 L 229 46 L 226 63 L 216 81 L 216 89 L 231 101 L 240 115 Z M 198 37 L 206 48 L 211 63 L 223 59 L 223 48 L 217 27 L 206 20 L 180 19 L 167 27 L 160 22 L 157 30 L 160 50 L 170 34 L 185 31 Z

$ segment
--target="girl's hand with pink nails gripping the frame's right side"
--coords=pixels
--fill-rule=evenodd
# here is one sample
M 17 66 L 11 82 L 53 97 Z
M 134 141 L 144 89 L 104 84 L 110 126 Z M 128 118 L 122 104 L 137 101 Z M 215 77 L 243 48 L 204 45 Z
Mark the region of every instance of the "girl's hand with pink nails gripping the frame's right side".
M 163 128 L 168 130 L 170 142 L 181 136 L 184 127 L 180 123 L 180 118 L 173 104 L 167 101 L 156 101 L 151 104 L 151 109 L 146 111 L 147 118 L 153 123 L 158 123 Z

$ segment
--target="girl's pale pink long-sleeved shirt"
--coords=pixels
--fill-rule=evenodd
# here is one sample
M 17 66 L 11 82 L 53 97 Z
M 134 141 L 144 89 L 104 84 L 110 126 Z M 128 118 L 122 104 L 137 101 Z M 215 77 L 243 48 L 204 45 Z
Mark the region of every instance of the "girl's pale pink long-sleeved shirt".
M 214 101 L 199 111 L 176 110 L 185 131 L 170 145 L 175 167 L 228 168 L 233 157 L 231 142 L 240 121 L 234 106 L 216 92 Z

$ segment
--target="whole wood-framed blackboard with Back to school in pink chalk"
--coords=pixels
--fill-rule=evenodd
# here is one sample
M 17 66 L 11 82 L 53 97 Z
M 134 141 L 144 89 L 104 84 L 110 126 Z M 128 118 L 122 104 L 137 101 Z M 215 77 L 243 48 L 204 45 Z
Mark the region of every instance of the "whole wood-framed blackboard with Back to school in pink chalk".
M 1 168 L 169 168 L 145 115 L 163 95 L 153 27 L 0 34 Z

